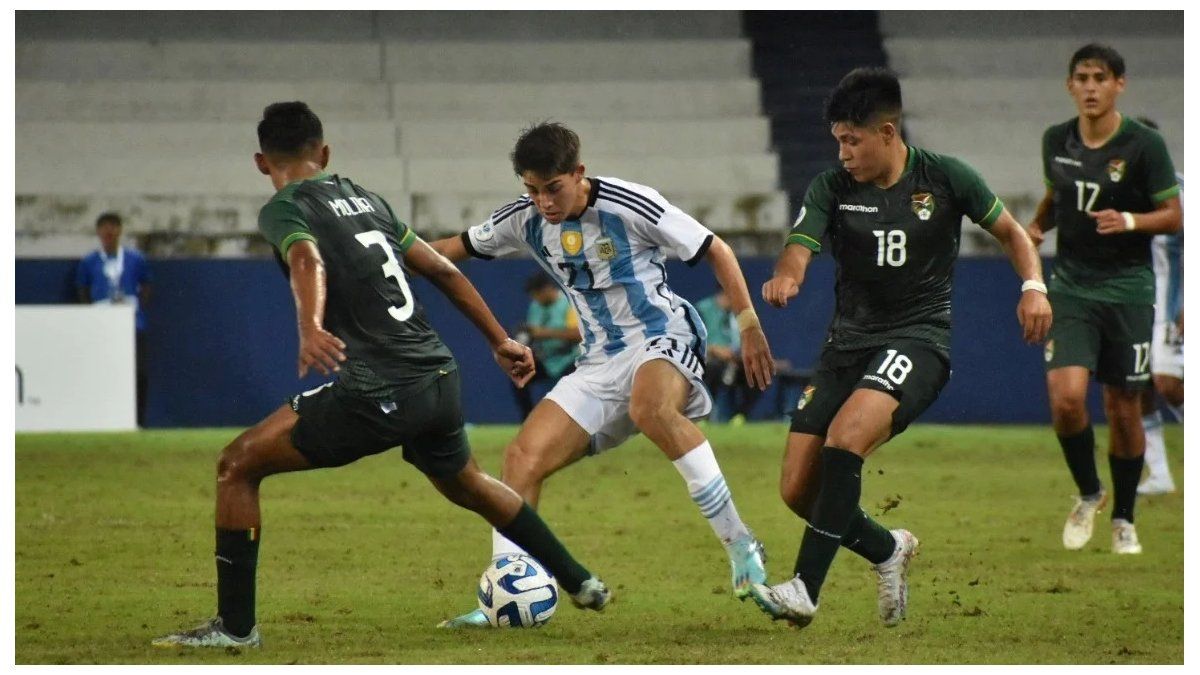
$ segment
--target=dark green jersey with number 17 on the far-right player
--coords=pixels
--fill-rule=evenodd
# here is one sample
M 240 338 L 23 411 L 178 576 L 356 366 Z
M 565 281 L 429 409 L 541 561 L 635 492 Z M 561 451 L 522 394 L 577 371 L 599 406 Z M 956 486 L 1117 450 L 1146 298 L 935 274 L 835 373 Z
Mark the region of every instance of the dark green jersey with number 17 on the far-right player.
M 1058 256 L 1050 291 L 1108 303 L 1154 304 L 1152 234 L 1098 234 L 1087 211 L 1144 214 L 1180 193 L 1175 166 L 1157 131 L 1128 117 L 1100 148 L 1079 137 L 1079 118 L 1042 137 L 1042 166 L 1054 191 Z

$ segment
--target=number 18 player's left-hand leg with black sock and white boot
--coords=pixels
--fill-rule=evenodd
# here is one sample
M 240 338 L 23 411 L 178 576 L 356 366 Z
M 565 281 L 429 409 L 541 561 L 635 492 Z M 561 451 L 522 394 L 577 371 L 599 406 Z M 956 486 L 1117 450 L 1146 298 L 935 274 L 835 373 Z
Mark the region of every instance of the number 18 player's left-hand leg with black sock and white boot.
M 898 406 L 896 399 L 883 392 L 856 389 L 834 417 L 821 448 L 821 489 L 811 506 L 794 577 L 775 586 L 751 586 L 755 602 L 773 619 L 800 627 L 812 621 L 829 566 L 851 522 L 862 513 L 863 460 L 892 436 Z M 898 613 L 902 615 L 902 604 Z

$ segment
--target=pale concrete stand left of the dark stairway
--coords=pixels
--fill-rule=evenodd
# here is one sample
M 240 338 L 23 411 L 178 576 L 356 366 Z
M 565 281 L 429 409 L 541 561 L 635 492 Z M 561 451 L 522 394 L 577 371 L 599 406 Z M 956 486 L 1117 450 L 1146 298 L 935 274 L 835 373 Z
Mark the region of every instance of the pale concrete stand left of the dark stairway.
M 144 245 L 191 241 L 152 253 L 262 252 L 253 121 L 295 98 L 328 120 L 332 168 L 427 235 L 511 199 L 508 151 L 541 119 L 580 131 L 589 172 L 716 229 L 788 225 L 738 12 L 324 12 L 287 31 L 271 12 L 233 31 L 210 12 L 124 14 L 18 14 L 18 255 L 77 252 L 103 208 Z

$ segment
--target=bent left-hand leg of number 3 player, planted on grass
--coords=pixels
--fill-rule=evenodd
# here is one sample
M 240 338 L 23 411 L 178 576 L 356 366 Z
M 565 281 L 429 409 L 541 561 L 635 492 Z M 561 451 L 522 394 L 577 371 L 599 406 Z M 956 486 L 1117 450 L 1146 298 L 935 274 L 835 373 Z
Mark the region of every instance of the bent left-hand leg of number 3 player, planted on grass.
M 257 647 L 254 580 L 262 515 L 258 489 L 276 473 L 313 468 L 292 444 L 299 417 L 282 406 L 247 429 L 217 461 L 216 562 L 217 615 L 202 626 L 154 640 L 155 646 Z

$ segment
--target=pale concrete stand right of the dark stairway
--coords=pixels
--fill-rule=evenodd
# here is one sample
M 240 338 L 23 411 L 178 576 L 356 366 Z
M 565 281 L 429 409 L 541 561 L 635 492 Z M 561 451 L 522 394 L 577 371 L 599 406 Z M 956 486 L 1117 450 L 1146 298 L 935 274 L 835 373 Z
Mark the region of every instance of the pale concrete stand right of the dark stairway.
M 1022 222 L 1044 190 L 1042 133 L 1075 115 L 1067 65 L 1088 41 L 1124 56 L 1120 109 L 1153 118 L 1183 171 L 1178 12 L 886 11 L 880 29 L 904 86 L 907 138 L 974 166 Z M 964 233 L 964 252 L 994 250 L 976 228 Z

